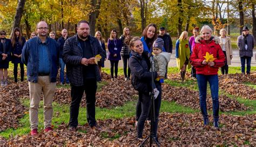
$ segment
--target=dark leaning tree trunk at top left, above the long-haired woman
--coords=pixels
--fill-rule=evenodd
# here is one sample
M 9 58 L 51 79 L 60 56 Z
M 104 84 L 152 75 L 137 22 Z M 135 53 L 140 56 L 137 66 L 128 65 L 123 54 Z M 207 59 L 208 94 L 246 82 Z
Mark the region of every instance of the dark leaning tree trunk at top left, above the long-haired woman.
M 11 29 L 11 36 L 12 36 L 12 33 L 14 33 L 14 28 L 19 27 L 19 24 L 21 24 L 21 18 L 22 18 L 22 13 L 23 13 L 25 3 L 26 3 L 26 0 L 18 0 L 16 15 L 14 17 L 14 24 L 12 24 L 12 29 Z

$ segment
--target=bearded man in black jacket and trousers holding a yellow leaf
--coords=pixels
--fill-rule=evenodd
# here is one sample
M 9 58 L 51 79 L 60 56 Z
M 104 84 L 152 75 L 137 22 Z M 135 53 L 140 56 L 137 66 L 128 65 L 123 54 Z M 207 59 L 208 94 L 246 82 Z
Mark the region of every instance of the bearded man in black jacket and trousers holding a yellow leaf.
M 77 24 L 77 34 L 65 41 L 63 61 L 66 64 L 68 78 L 71 84 L 70 131 L 76 131 L 78 125 L 79 106 L 83 94 L 86 94 L 87 122 L 92 129 L 96 128 L 95 101 L 97 81 L 100 81 L 95 56 L 102 59 L 106 53 L 95 37 L 90 36 L 89 23 L 81 20 Z

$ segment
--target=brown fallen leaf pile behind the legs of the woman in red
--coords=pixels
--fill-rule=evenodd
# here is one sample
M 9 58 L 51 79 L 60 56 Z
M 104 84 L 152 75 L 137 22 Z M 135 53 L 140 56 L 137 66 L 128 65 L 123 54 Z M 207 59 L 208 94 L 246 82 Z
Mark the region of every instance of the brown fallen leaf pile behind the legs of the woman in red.
M 183 106 L 199 109 L 199 92 L 186 87 L 173 87 L 168 84 L 162 85 L 162 98 L 167 101 L 175 101 Z M 206 97 L 207 109 L 212 109 L 211 95 Z M 230 99 L 225 95 L 219 95 L 220 111 L 241 111 L 248 108 L 235 99 Z

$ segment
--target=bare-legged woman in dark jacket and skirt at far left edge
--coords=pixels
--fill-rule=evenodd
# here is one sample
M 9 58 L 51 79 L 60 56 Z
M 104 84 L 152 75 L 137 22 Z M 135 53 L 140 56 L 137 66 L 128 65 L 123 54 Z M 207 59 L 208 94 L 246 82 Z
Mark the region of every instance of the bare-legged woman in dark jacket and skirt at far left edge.
M 11 58 L 11 40 L 5 38 L 6 32 L 0 31 L 0 78 L 1 86 L 8 85 L 8 68 Z

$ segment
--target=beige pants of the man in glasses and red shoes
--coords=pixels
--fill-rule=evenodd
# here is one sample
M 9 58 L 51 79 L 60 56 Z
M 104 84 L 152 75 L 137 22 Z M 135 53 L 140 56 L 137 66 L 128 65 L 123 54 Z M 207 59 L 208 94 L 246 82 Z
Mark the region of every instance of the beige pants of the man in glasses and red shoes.
M 31 129 L 38 128 L 38 107 L 43 92 L 44 101 L 44 128 L 51 127 L 52 99 L 55 93 L 56 82 L 50 82 L 50 76 L 38 76 L 37 83 L 29 82 L 30 107 L 29 118 Z

